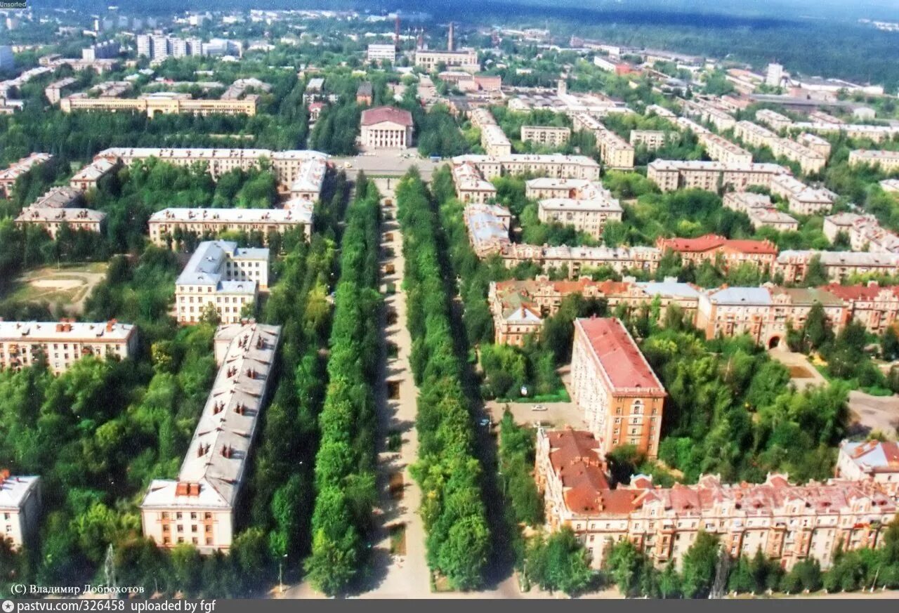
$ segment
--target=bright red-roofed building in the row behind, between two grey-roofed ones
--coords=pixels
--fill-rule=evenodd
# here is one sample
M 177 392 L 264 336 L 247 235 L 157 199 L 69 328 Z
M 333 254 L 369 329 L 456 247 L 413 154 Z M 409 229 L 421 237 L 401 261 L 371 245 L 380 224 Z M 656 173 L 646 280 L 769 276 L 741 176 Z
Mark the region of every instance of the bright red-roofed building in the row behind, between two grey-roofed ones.
M 697 266 L 708 261 L 718 263 L 725 271 L 732 266 L 738 266 L 743 262 L 752 262 L 762 269 L 770 270 L 774 260 L 778 256 L 777 245 L 769 240 L 738 240 L 708 234 L 699 238 L 663 238 L 655 242 L 655 246 L 662 251 L 672 250 L 681 254 L 684 263 L 693 262 Z

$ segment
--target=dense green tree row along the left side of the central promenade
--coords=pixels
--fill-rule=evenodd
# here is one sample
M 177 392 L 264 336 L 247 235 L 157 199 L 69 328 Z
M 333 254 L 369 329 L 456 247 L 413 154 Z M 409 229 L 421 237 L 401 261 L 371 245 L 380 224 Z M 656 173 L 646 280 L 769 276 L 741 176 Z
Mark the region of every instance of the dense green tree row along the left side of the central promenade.
M 375 475 L 378 376 L 378 190 L 364 175 L 347 214 L 341 276 L 334 291 L 328 386 L 318 424 L 312 553 L 316 589 L 334 594 L 360 576 L 368 557 L 377 502 Z

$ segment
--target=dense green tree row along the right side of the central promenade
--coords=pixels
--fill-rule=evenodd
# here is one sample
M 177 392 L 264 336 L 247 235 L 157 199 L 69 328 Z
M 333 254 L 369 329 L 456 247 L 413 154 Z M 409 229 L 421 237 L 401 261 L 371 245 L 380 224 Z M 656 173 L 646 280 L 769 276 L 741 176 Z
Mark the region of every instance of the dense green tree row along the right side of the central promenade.
M 447 252 L 432 194 L 414 170 L 397 186 L 396 204 L 403 229 L 408 327 L 414 339 L 411 363 L 419 388 L 419 459 L 413 474 L 423 494 L 427 560 L 450 588 L 471 590 L 484 581 L 491 542 L 445 281 Z

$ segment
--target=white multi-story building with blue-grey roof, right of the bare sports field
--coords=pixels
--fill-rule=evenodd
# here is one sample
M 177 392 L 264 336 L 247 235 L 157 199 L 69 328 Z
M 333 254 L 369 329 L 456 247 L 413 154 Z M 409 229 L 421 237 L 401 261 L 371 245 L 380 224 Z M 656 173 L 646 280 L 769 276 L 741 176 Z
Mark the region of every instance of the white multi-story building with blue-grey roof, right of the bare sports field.
M 223 324 L 237 324 L 255 306 L 260 289 L 269 285 L 269 250 L 238 248 L 231 241 L 206 241 L 197 246 L 175 280 L 175 316 L 181 324 L 196 324 L 212 306 Z

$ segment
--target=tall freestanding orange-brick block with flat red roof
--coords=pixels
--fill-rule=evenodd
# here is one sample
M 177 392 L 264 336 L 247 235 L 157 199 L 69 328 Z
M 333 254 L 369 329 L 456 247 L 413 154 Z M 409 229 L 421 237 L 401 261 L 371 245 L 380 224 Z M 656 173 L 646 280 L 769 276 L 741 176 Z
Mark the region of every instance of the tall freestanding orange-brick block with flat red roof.
M 574 321 L 571 395 L 602 454 L 629 444 L 658 456 L 667 394 L 619 319 Z

